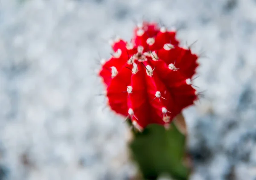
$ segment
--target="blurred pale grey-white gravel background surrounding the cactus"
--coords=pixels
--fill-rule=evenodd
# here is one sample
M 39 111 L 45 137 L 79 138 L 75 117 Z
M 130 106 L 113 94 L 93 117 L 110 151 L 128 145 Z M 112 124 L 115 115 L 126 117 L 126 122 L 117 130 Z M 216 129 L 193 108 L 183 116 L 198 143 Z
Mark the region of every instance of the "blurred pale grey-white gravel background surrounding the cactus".
M 0 180 L 131 180 L 95 69 L 143 19 L 197 40 L 190 179 L 256 180 L 256 0 L 0 0 Z

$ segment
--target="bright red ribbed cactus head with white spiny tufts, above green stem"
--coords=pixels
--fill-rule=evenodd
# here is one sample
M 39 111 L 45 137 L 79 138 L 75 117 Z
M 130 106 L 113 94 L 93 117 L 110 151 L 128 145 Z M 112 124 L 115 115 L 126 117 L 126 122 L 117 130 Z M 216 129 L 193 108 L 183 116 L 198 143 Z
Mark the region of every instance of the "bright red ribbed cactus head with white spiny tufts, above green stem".
M 191 78 L 198 56 L 179 46 L 175 31 L 144 22 L 131 43 L 116 38 L 114 53 L 99 75 L 113 111 L 129 117 L 142 130 L 151 123 L 168 125 L 197 99 Z

